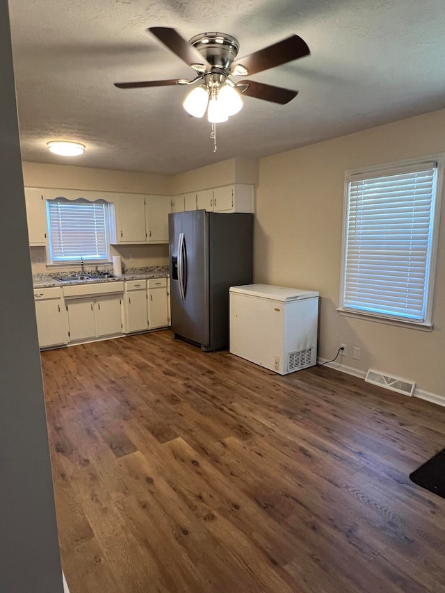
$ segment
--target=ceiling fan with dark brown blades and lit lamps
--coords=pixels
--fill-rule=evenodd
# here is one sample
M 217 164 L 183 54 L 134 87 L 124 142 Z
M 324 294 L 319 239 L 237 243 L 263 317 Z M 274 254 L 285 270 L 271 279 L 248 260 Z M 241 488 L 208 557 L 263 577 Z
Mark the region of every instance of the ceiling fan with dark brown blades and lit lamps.
M 200 81 L 184 99 L 185 110 L 194 117 L 202 117 L 212 124 L 212 137 L 216 152 L 216 124 L 226 122 L 230 115 L 238 113 L 243 106 L 241 95 L 264 99 L 284 105 L 289 103 L 298 91 L 271 86 L 256 81 L 232 81 L 231 76 L 257 74 L 269 68 L 280 66 L 292 60 L 309 55 L 309 47 L 298 35 L 260 49 L 235 60 L 239 44 L 227 33 L 200 33 L 188 42 L 175 29 L 150 27 L 147 29 L 186 64 L 195 70 L 191 79 L 170 79 L 115 83 L 118 88 L 145 88 L 151 86 L 193 85 Z

